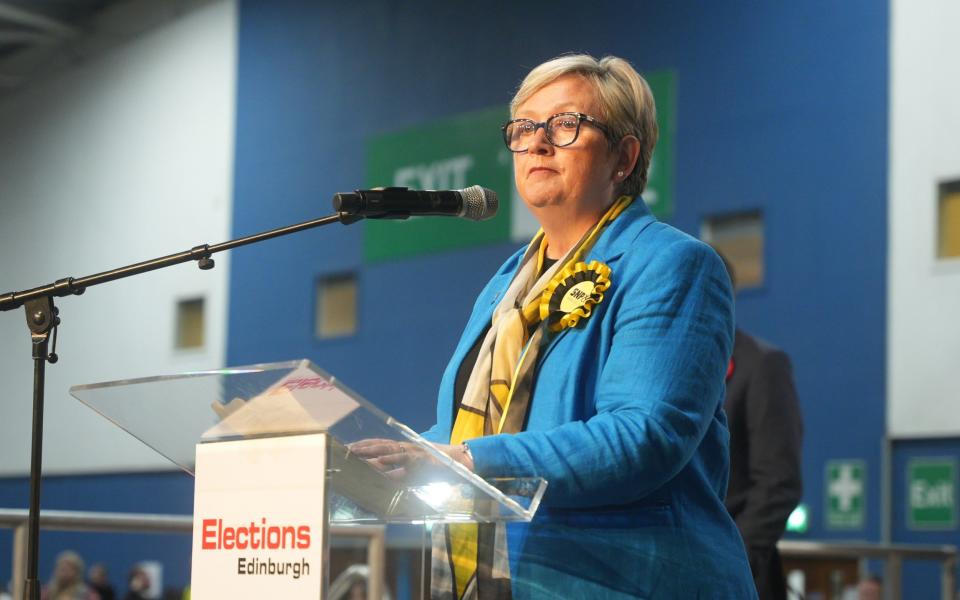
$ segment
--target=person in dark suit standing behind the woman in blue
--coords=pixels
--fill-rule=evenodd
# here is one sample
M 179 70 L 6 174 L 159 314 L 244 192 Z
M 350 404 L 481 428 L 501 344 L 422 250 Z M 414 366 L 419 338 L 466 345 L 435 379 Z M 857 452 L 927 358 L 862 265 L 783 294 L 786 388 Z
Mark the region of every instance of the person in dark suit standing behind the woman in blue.
M 727 511 L 746 545 L 760 600 L 783 600 L 787 586 L 777 541 L 802 493 L 803 423 L 790 358 L 737 329 L 724 409 L 730 427 Z

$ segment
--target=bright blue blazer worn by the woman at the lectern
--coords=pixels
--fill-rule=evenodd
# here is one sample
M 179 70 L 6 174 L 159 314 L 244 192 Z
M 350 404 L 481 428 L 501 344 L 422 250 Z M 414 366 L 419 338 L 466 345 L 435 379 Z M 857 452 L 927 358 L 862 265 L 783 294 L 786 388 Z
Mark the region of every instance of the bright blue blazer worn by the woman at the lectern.
M 454 380 L 523 251 L 480 293 L 440 384 L 449 443 Z M 549 482 L 530 523 L 507 528 L 515 598 L 755 598 L 723 505 L 730 281 L 705 244 L 638 198 L 587 256 L 612 270 L 593 314 L 539 356 L 526 430 L 469 441 L 481 476 Z

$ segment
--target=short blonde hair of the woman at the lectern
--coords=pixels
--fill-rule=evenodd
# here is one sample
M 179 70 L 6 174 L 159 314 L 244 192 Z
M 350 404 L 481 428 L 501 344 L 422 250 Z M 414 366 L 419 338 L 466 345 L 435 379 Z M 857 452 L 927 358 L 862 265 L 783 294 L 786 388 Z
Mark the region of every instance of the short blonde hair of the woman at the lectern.
M 633 66 L 622 58 L 589 54 L 565 54 L 535 67 L 520 84 L 510 101 L 510 115 L 542 87 L 565 75 L 579 75 L 593 84 L 602 115 L 596 116 L 610 130 L 610 149 L 625 136 L 640 140 L 640 156 L 633 171 L 620 184 L 617 194 L 636 196 L 647 187 L 647 171 L 657 144 L 657 108 L 650 86 Z

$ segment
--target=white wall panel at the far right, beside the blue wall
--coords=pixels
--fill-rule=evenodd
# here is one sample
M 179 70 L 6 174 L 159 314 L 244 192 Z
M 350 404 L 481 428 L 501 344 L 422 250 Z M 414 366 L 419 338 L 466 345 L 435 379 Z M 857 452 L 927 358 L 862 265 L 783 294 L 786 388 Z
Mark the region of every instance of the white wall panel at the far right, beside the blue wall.
M 937 185 L 960 179 L 960 3 L 891 2 L 887 427 L 960 435 L 960 260 L 938 260 Z

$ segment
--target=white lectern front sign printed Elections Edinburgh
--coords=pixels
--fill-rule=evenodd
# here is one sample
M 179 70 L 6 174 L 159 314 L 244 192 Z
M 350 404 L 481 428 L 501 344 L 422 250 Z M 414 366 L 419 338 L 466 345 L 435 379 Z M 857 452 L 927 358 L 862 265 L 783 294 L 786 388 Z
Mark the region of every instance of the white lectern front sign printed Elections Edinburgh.
M 197 446 L 192 598 L 322 597 L 326 437 Z

